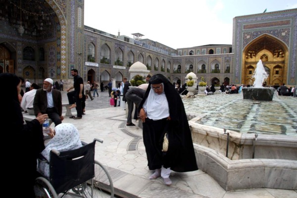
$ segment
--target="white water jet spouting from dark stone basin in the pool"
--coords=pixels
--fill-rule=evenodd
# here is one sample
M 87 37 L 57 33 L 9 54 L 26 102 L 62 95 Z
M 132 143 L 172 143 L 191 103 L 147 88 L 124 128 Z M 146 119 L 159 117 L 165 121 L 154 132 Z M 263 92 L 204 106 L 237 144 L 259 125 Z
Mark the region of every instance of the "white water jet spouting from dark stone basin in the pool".
M 262 60 L 259 60 L 251 77 L 252 79 L 255 79 L 253 87 L 243 88 L 244 99 L 271 101 L 275 89 L 263 87 L 263 83 L 267 77 L 268 74 L 263 67 Z

